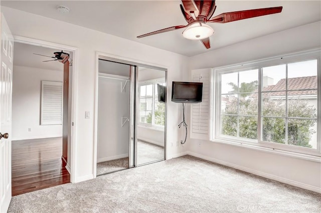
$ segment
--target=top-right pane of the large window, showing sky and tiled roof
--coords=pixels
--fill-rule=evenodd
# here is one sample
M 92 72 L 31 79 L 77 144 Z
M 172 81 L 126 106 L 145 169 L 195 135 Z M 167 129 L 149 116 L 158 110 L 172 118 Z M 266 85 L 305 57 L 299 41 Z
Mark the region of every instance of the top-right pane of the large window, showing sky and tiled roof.
M 288 89 L 317 88 L 317 60 L 289 63 L 287 67 Z

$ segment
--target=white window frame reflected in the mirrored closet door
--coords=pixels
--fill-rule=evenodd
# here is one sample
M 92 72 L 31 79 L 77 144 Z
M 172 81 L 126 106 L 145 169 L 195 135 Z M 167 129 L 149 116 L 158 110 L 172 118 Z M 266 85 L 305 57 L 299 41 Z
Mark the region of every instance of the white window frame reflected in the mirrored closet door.
M 139 81 L 138 82 L 138 94 L 139 94 L 139 97 L 138 97 L 138 102 L 139 102 L 139 107 L 140 107 L 140 87 L 143 86 L 143 85 L 150 85 L 152 84 L 152 107 L 151 107 L 151 123 L 146 123 L 146 122 L 141 122 L 141 119 L 140 119 L 140 108 L 139 108 L 139 121 L 138 121 L 138 125 L 139 126 L 144 126 L 144 127 L 150 127 L 150 128 L 156 128 L 156 129 L 161 129 L 161 130 L 164 130 L 165 129 L 165 125 L 158 125 L 158 124 L 155 124 L 154 122 L 154 113 L 155 113 L 155 99 L 156 99 L 156 96 L 155 96 L 155 86 L 157 83 L 166 83 L 165 81 L 165 77 L 162 77 L 162 78 L 155 78 L 155 79 L 151 79 L 151 80 L 143 80 L 143 81 Z M 149 98 L 149 97 L 148 97 Z M 150 110 L 146 110 L 147 109 L 147 104 L 145 106 L 145 111 L 150 111 Z M 165 111 L 164 110 L 164 114 L 165 114 Z

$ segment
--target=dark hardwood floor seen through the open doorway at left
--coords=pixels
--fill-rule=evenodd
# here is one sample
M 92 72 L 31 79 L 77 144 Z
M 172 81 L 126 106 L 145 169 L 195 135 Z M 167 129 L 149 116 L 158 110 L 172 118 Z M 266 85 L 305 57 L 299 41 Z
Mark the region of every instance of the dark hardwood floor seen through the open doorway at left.
M 62 137 L 12 141 L 12 195 L 70 182 Z

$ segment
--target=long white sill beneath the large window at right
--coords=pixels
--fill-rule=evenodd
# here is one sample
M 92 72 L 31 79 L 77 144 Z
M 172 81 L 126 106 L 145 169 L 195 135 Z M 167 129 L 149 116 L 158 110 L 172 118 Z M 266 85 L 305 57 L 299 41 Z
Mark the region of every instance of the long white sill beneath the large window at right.
M 228 145 L 244 147 L 244 148 L 255 149 L 255 150 L 279 154 L 279 155 L 283 155 L 283 156 L 290 156 L 290 157 L 295 157 L 295 158 L 299 158 L 299 159 L 321 162 L 320 156 L 315 156 L 315 155 L 310 155 L 310 154 L 301 154 L 301 153 L 297 153 L 297 152 L 284 151 L 284 150 L 280 150 L 280 149 L 262 147 L 262 146 L 258 146 L 258 145 L 250 145 L 250 144 L 246 144 L 246 143 L 233 142 L 233 141 L 221 140 L 221 139 L 212 139 L 210 141 L 216 142 L 216 143 L 223 143 L 223 144 L 228 144 Z

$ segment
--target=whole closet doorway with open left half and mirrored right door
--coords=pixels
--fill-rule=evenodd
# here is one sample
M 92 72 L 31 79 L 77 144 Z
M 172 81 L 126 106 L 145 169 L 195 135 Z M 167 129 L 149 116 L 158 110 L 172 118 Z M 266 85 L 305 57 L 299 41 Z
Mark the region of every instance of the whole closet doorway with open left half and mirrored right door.
M 166 159 L 167 69 L 98 52 L 96 67 L 94 176 Z

